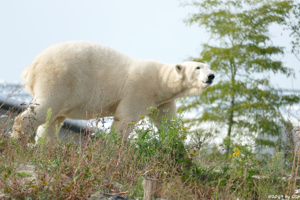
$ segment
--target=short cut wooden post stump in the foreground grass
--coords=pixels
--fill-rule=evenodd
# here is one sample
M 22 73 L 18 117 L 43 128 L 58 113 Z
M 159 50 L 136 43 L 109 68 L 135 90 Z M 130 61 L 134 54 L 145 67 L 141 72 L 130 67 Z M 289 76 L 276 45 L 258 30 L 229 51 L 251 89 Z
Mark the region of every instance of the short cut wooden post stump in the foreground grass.
M 144 200 L 151 200 L 152 197 L 161 198 L 161 179 L 144 178 Z

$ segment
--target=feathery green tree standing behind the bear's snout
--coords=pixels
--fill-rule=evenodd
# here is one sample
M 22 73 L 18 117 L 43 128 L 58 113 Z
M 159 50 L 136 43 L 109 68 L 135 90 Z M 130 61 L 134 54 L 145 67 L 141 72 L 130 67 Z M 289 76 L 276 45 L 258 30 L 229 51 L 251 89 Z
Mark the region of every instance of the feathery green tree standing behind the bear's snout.
M 259 145 L 270 145 L 269 136 L 280 136 L 283 130 L 280 107 L 300 100 L 283 95 L 269 81 L 270 73 L 294 75 L 280 61 L 284 48 L 272 45 L 268 29 L 272 23 L 285 22 L 293 2 L 205 0 L 185 5 L 199 9 L 186 22 L 206 28 L 214 41 L 203 44 L 200 57 L 192 60 L 210 64 L 219 80 L 201 95 L 182 100 L 182 110 L 203 108 L 188 122 L 226 124 L 228 136 L 256 133 L 264 136 Z

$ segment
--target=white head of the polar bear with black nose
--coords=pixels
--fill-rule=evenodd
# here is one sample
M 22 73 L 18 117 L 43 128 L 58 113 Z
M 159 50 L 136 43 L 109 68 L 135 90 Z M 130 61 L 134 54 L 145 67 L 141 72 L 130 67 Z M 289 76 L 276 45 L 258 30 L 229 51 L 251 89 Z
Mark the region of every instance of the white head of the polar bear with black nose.
M 175 70 L 185 96 L 204 91 L 214 81 L 214 73 L 208 64 L 188 61 L 176 64 Z

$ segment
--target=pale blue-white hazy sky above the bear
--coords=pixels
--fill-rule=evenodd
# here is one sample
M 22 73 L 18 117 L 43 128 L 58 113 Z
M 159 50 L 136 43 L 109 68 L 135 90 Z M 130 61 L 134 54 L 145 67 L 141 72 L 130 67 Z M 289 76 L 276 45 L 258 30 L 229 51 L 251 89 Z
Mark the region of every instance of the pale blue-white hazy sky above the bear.
M 197 25 L 186 26 L 183 19 L 196 9 L 179 5 L 176 0 L 1 1 L 0 80 L 20 82 L 22 70 L 39 52 L 66 40 L 91 40 L 137 58 L 166 63 L 197 56 L 209 35 Z M 287 47 L 283 61 L 298 77 L 292 80 L 272 74 L 271 82 L 292 88 L 293 81 L 294 88 L 300 89 L 300 62 L 289 53 L 288 32 L 276 26 L 271 32 L 275 45 Z

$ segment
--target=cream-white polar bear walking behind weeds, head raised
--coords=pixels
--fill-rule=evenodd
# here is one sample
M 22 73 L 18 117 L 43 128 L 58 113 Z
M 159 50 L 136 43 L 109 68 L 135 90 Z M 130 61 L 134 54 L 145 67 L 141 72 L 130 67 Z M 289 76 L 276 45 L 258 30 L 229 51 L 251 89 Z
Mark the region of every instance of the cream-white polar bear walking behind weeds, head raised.
M 44 137 L 53 142 L 54 122 L 63 123 L 65 118 L 91 119 L 92 110 L 101 112 L 101 117 L 111 113 L 118 119 L 113 127 L 121 132 L 151 106 L 161 111 L 159 121 L 163 109 L 169 109 L 169 114 L 176 113 L 177 98 L 208 88 L 214 74 L 207 64 L 199 62 L 166 64 L 133 58 L 90 41 L 67 41 L 38 54 L 23 71 L 22 78 L 38 106 L 34 110 L 35 120 L 29 122 L 32 108 L 16 118 L 13 137 L 19 138 L 38 128 L 36 140 Z M 113 103 L 103 106 L 100 95 Z M 44 136 L 49 108 L 53 123 Z

